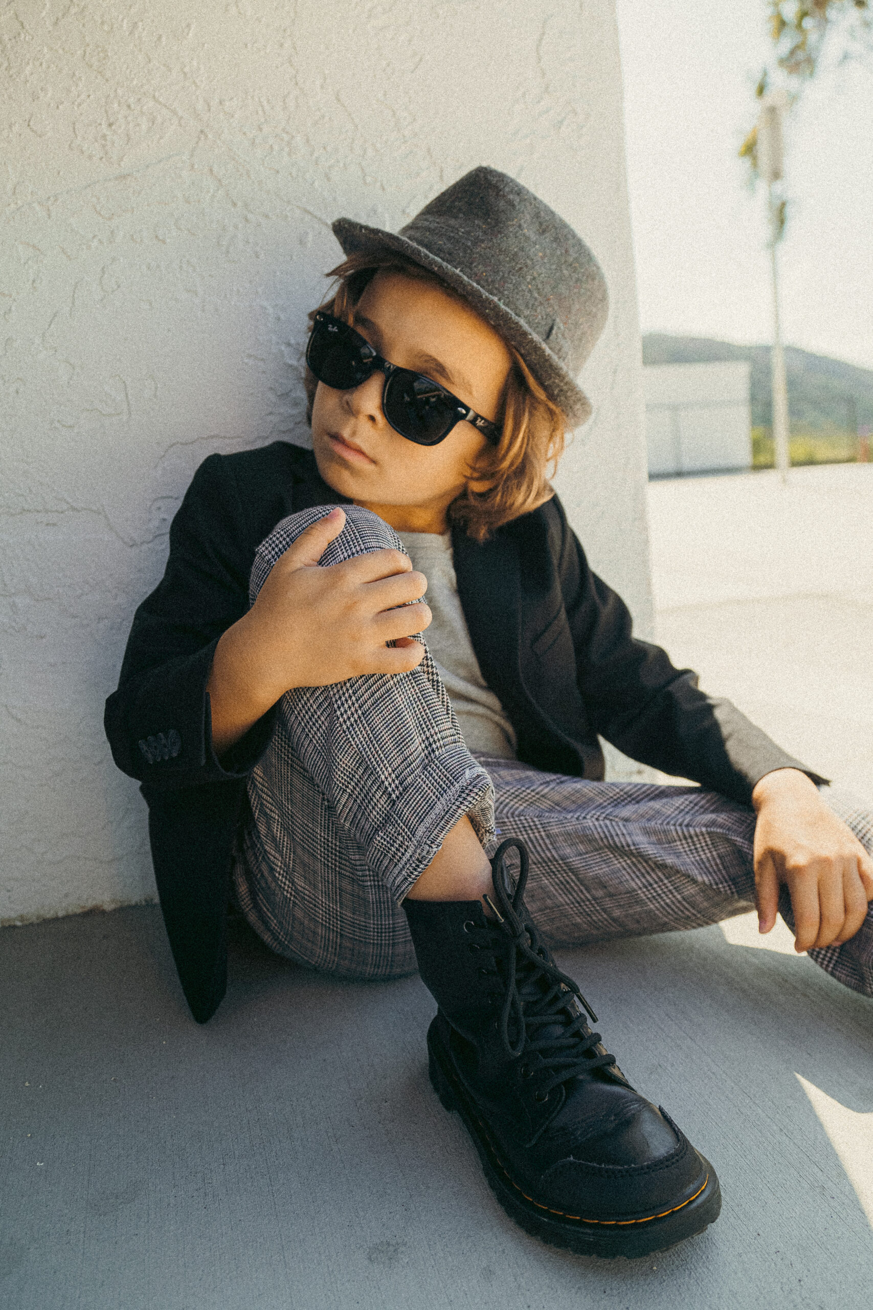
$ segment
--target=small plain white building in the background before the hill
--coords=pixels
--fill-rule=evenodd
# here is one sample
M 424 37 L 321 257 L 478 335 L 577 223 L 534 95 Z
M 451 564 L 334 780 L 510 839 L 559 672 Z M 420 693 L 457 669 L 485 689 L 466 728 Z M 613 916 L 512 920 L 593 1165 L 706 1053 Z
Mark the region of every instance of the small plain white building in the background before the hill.
M 649 477 L 751 468 L 751 364 L 643 369 Z

